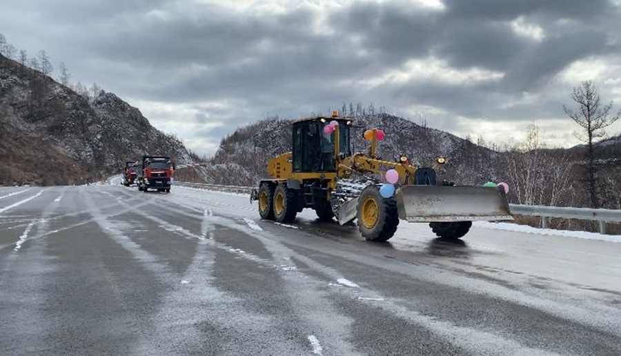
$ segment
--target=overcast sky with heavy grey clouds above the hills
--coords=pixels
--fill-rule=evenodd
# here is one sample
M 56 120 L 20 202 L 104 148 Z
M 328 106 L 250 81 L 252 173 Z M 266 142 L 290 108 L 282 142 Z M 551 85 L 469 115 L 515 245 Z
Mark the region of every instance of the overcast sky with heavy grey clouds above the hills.
M 499 144 L 534 122 L 573 146 L 574 86 L 621 108 L 620 14 L 621 0 L 1 0 L 0 32 L 200 154 L 344 102 Z

